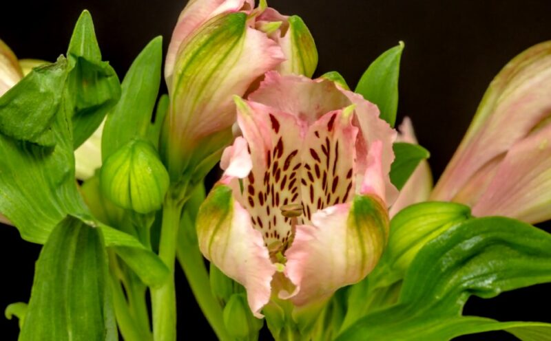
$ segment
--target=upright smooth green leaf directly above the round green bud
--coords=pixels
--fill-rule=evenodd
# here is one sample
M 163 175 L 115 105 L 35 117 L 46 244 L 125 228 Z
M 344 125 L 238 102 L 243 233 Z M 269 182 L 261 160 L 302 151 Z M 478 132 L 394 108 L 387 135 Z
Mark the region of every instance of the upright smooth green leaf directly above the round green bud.
M 123 80 L 121 100 L 107 115 L 101 143 L 103 161 L 135 137 L 149 135 L 162 61 L 163 39 L 158 36 L 130 66 Z

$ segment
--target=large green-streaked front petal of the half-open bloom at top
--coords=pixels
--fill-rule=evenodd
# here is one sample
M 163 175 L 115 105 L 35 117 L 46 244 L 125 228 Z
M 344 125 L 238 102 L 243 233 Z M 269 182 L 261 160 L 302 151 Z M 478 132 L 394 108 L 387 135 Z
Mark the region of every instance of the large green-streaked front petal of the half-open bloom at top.
M 247 26 L 243 12 L 214 17 L 185 40 L 168 84 L 171 102 L 160 138 L 171 179 L 192 176 L 231 140 L 236 120 L 231 96 L 245 94 L 283 59 L 274 41 Z M 217 159 L 213 157 L 211 166 Z

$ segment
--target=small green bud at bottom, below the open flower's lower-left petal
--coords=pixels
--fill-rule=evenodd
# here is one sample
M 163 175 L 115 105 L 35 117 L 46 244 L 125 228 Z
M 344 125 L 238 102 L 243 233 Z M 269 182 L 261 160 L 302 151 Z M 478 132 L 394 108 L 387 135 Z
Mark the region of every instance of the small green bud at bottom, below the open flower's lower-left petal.
M 247 294 L 233 294 L 224 308 L 224 325 L 233 338 L 250 340 L 258 338 L 263 320 L 255 318 L 247 304 Z

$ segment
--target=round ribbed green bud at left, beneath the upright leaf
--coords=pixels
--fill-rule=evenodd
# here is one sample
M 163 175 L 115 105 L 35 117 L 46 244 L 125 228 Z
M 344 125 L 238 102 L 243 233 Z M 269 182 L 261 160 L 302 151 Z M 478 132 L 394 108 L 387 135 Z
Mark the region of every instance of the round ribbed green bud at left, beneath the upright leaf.
M 118 206 L 145 214 L 162 205 L 169 176 L 150 142 L 131 140 L 107 157 L 100 186 Z

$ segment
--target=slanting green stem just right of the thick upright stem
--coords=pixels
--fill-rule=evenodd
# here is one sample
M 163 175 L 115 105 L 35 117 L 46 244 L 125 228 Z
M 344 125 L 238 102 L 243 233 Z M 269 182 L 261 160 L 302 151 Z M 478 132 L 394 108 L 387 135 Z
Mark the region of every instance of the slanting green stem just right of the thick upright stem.
M 184 221 L 187 225 L 183 225 L 178 234 L 178 262 L 184 270 L 187 283 L 189 283 L 203 315 L 209 321 L 214 333 L 218 336 L 218 340 L 232 340 L 224 325 L 222 307 L 212 295 L 209 274 L 199 250 L 196 236 L 189 231 L 191 229 L 193 229 L 192 231 L 195 230 L 194 223 L 189 217 L 186 218 Z

